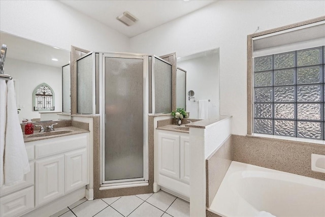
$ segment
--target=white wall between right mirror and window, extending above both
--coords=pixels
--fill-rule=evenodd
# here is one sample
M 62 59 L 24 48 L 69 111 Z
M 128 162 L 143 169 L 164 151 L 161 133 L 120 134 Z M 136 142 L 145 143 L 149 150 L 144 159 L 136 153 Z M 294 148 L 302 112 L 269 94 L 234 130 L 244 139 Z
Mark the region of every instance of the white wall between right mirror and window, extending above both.
M 131 39 L 132 52 L 185 56 L 220 48 L 220 114 L 247 132 L 247 35 L 325 15 L 325 1 L 218 1 Z M 195 91 L 195 90 L 194 90 Z

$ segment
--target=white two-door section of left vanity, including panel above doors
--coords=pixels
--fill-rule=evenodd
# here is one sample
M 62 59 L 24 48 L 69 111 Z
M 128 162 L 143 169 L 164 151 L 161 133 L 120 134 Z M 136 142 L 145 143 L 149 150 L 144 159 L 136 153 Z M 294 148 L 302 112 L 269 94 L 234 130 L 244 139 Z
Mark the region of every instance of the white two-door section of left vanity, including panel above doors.
M 35 144 L 36 207 L 88 184 L 88 134 L 44 141 Z

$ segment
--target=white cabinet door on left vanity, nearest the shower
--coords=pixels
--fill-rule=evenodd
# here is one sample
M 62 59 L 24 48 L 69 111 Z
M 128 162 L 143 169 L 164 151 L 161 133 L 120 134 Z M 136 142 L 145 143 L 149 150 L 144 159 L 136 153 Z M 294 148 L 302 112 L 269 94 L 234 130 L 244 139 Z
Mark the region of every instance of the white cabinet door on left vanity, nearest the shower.
M 86 148 L 64 154 L 64 188 L 65 193 L 87 184 Z

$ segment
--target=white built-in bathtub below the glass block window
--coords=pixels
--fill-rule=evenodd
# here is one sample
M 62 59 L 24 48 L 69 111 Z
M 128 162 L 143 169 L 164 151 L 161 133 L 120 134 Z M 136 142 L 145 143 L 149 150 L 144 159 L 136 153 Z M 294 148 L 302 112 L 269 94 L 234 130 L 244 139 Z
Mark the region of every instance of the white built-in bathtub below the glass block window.
M 222 217 L 324 217 L 325 181 L 233 161 L 208 210 Z

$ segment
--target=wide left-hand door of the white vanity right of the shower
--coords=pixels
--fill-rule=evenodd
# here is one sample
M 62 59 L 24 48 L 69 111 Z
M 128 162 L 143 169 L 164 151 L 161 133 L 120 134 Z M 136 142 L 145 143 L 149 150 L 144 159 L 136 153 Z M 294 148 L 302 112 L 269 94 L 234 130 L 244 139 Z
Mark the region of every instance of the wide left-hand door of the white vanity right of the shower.
M 179 136 L 158 133 L 158 171 L 179 180 Z

